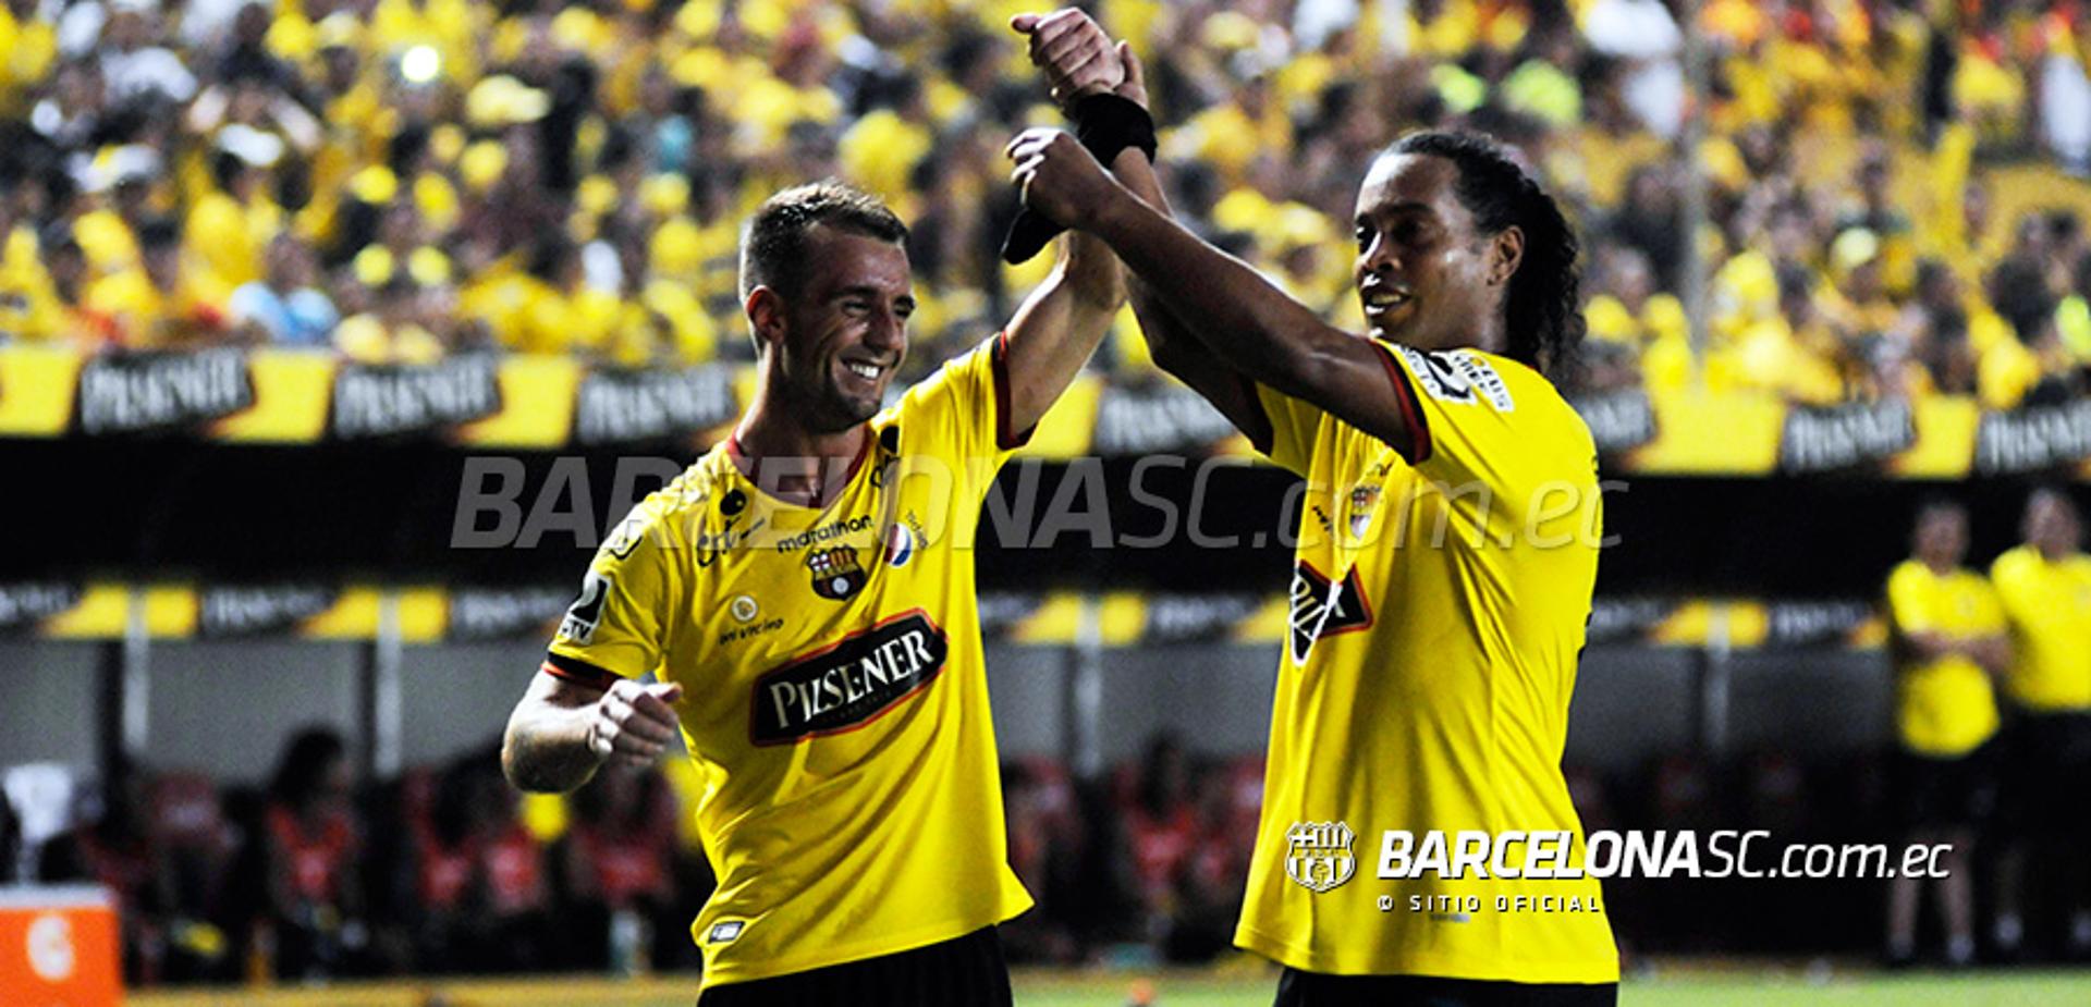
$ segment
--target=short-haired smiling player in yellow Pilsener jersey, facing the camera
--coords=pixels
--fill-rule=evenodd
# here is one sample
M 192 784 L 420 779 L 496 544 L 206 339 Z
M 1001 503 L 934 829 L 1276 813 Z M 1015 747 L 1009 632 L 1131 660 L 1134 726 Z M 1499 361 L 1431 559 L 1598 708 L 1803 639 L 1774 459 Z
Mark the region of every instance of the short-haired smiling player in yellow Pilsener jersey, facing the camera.
M 719 877 L 692 923 L 703 1007 L 1010 1003 L 995 926 L 1031 898 L 966 549 L 1123 280 L 1071 240 L 1002 334 L 880 412 L 907 353 L 905 236 L 836 182 L 757 209 L 755 401 L 602 545 L 508 723 L 508 777 L 550 792 L 650 763 L 680 727 Z

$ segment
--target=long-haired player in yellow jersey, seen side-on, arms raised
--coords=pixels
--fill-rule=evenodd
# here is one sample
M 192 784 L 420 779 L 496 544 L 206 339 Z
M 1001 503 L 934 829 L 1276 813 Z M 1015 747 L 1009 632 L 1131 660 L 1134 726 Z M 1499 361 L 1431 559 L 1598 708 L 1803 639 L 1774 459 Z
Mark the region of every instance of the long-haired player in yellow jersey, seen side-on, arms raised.
M 1056 92 L 1138 94 L 1092 21 L 1027 27 Z M 1560 758 L 1600 499 L 1549 380 L 1583 334 L 1554 201 L 1480 136 L 1399 140 L 1357 196 L 1353 334 L 1177 226 L 1144 161 L 1106 173 L 1054 132 L 1010 155 L 1033 211 L 1133 274 L 1154 361 L 1307 476 L 1236 944 L 1286 965 L 1280 1005 L 1614 1003 L 1595 880 L 1455 877 L 1430 846 L 1581 861 Z

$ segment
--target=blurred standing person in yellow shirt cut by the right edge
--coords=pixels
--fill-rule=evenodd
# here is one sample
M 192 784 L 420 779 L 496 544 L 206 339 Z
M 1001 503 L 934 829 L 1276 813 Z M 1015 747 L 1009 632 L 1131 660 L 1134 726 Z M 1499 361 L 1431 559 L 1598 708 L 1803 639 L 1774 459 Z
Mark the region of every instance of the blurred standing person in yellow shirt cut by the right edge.
M 2083 857 L 2068 844 L 2091 825 L 2085 802 L 2066 794 L 2091 788 L 2091 556 L 2083 554 L 2083 522 L 2060 489 L 2026 497 L 2024 545 L 1997 558 L 1989 579 L 2012 620 L 2012 673 L 2003 677 L 2012 706 L 2003 737 L 2007 771 L 2003 804 L 2009 852 L 1997 865 L 1997 949 L 2024 940 L 2020 894 L 2032 846 L 2055 852 L 2058 890 L 2070 911 L 2070 951 L 2091 951 L 2091 905 L 2085 903 Z

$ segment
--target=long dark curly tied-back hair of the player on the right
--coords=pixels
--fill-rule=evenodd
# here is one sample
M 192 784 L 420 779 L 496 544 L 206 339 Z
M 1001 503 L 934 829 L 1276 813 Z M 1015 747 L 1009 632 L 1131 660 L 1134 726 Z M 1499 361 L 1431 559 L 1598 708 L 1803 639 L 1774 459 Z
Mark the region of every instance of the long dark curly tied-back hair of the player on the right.
M 1554 380 L 1570 378 L 1583 345 L 1581 276 L 1575 230 L 1554 196 L 1483 134 L 1407 134 L 1386 155 L 1451 161 L 1460 169 L 1460 205 L 1474 215 L 1476 230 L 1491 236 L 1510 228 L 1524 232 L 1524 257 L 1503 297 L 1506 351 Z

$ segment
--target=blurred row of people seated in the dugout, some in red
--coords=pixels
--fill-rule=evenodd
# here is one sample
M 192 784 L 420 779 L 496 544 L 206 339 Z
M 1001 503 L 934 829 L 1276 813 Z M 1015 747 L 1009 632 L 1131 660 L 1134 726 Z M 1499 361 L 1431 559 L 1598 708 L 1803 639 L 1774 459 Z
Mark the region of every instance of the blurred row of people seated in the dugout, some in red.
M 115 767 L 107 786 L 38 786 L 33 773 L 15 769 L 19 819 L 0 800 L 0 884 L 107 886 L 134 986 L 703 965 L 688 921 L 713 873 L 690 825 L 703 783 L 688 760 L 525 798 L 493 748 L 368 779 L 337 733 L 312 729 L 286 742 L 266 786 L 140 765 Z M 1859 819 L 1878 806 L 1880 765 L 1811 773 L 1786 756 L 1675 756 L 1629 777 L 1572 769 L 1570 783 L 1591 829 L 1623 827 L 1623 813 L 1669 827 L 1748 821 L 1779 840 L 1886 838 Z M 1161 731 L 1096 777 L 1050 756 L 1010 760 L 1004 792 L 1010 865 L 1037 900 L 1002 928 L 1014 963 L 1255 967 L 1232 938 L 1261 754 L 1194 754 Z M 33 836 L 38 821 L 56 827 Z M 1708 919 L 1702 886 L 1606 882 L 1608 911 L 1633 919 L 1629 955 L 1763 944 L 1779 892 L 1727 890 L 1727 911 Z M 1798 926 L 1773 942 L 1848 944 L 1853 921 L 1871 932 L 1871 905 L 1836 913 L 1838 936 Z

